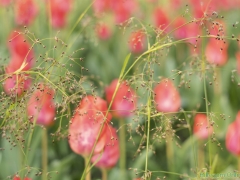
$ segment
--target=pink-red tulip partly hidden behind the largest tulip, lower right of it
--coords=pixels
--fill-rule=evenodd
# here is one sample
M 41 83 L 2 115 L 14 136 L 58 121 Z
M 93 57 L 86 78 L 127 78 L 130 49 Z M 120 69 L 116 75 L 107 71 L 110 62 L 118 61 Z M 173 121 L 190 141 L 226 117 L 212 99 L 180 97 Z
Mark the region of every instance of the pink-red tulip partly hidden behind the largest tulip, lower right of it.
M 108 125 L 106 131 L 106 142 L 103 152 L 95 154 L 91 161 L 95 163 L 95 166 L 99 168 L 112 168 L 114 167 L 119 159 L 119 142 L 116 129 L 111 125 Z

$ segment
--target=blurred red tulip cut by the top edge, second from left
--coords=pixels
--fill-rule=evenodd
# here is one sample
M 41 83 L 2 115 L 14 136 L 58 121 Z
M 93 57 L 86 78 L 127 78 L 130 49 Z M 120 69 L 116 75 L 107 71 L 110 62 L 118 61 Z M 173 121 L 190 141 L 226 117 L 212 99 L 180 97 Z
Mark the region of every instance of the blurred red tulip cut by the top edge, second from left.
M 63 28 L 67 14 L 71 10 L 72 0 L 49 0 L 51 22 L 54 28 Z

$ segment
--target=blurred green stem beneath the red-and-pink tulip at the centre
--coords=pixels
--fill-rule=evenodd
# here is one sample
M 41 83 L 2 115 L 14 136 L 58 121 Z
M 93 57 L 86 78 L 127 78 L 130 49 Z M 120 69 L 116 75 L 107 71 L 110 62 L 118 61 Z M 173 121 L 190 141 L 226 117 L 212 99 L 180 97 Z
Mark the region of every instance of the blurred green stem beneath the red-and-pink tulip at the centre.
M 126 171 L 126 135 L 124 119 L 119 119 L 119 138 L 120 138 L 120 160 L 119 166 L 121 169 L 122 177 L 125 177 Z

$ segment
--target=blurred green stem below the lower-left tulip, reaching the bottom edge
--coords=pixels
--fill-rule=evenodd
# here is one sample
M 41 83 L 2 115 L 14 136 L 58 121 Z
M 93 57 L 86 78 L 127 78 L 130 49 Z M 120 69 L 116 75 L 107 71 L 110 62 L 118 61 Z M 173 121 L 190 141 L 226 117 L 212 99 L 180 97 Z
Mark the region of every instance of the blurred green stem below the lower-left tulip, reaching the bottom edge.
M 47 171 L 48 171 L 48 139 L 47 139 L 47 129 L 42 129 L 42 180 L 47 180 Z

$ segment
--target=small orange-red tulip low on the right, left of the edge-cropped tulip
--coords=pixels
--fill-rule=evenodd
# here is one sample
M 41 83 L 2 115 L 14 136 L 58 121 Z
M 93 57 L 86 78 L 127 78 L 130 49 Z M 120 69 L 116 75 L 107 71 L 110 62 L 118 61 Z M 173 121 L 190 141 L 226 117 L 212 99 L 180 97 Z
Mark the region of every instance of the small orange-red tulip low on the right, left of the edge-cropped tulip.
M 207 139 L 213 133 L 213 127 L 208 125 L 208 118 L 205 114 L 196 114 L 194 118 L 193 133 L 199 139 Z

